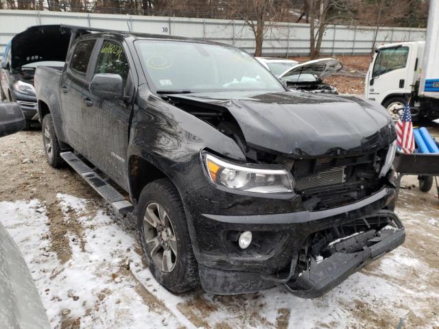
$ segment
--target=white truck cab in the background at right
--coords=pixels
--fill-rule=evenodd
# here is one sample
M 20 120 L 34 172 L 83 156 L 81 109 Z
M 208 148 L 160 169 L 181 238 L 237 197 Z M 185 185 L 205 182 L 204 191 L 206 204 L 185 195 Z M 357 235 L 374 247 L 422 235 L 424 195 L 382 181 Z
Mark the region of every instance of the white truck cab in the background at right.
M 424 41 L 414 41 L 383 45 L 375 50 L 366 74 L 366 99 L 383 105 L 394 120 L 399 119 L 419 82 L 424 48 Z M 416 119 L 418 108 L 412 114 Z

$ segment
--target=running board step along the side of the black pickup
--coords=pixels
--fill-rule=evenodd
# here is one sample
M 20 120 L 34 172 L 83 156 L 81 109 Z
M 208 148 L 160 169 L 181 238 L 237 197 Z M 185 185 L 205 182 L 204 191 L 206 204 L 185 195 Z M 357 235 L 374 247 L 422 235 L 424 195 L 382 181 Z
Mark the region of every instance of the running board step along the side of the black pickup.
M 119 214 L 126 215 L 127 212 L 133 210 L 131 202 L 127 201 L 121 193 L 103 180 L 95 171 L 88 167 L 84 161 L 78 158 L 78 156 L 75 156 L 72 152 L 62 152 L 60 156 L 70 167 L 75 169 L 99 195 L 106 199 Z

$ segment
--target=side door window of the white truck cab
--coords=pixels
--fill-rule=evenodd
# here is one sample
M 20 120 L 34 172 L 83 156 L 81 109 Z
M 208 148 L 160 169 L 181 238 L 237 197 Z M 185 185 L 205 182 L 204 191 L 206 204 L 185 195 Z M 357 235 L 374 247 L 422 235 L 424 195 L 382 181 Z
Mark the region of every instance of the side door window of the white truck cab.
M 407 64 L 409 47 L 385 48 L 379 51 L 375 65 L 373 66 L 372 77 L 379 77 L 384 73 L 403 69 Z

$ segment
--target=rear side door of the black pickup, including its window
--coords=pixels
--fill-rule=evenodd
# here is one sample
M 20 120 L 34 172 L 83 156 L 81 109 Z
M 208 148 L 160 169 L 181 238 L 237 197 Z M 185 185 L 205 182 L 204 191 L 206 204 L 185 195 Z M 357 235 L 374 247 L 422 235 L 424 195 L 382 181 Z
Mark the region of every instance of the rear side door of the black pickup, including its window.
M 89 63 L 95 43 L 96 39 L 87 39 L 75 44 L 69 66 L 60 80 L 64 132 L 69 145 L 86 157 L 84 90 L 88 90 Z

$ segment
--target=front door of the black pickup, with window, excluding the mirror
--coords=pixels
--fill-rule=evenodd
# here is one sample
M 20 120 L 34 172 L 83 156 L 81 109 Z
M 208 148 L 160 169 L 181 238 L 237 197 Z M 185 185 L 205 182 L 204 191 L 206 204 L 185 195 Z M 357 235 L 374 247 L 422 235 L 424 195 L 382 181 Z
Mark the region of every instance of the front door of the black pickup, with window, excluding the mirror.
M 117 40 L 99 41 L 93 64 L 95 74 L 119 74 L 124 84 L 126 99 L 102 99 L 88 91 L 86 97 L 91 103 L 86 107 L 88 154 L 99 169 L 127 187 L 126 169 L 128 166 L 128 129 L 132 108 L 133 84 L 126 49 Z M 131 96 L 131 97 L 130 97 Z

